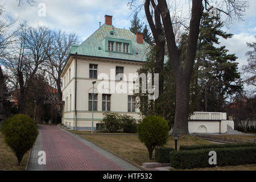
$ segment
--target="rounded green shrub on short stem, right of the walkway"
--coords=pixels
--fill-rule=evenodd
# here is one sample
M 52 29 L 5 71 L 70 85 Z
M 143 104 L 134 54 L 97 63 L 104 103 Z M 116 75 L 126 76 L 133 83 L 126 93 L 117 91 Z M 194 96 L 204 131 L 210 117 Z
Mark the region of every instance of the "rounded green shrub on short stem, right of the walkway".
M 148 115 L 144 118 L 137 128 L 138 137 L 145 144 L 150 159 L 156 146 L 166 144 L 169 137 L 169 126 L 166 119 L 157 117 L 156 115 Z

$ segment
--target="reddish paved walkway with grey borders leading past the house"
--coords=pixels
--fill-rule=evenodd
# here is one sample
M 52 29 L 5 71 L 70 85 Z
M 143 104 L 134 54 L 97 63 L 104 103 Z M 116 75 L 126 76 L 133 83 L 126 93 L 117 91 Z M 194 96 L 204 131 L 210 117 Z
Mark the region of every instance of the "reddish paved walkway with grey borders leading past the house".
M 38 126 L 27 170 L 137 171 L 139 168 L 59 126 Z M 39 151 L 46 165 L 38 164 Z

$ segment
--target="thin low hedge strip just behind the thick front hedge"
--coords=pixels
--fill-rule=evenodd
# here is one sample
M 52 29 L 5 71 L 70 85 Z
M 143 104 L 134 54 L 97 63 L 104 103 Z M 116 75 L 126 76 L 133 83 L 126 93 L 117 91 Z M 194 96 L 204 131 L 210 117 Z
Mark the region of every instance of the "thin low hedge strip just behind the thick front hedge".
M 227 147 L 253 147 L 256 143 L 232 143 L 232 144 L 201 144 L 192 146 L 180 146 L 180 150 L 197 150 L 203 148 L 227 148 Z

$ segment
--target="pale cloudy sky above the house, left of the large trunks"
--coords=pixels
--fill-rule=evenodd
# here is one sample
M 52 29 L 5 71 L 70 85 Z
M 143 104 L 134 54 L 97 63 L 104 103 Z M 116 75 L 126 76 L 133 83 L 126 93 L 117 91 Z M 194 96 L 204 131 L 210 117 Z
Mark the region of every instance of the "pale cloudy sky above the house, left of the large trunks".
M 39 3 L 46 5 L 46 16 L 38 16 Z M 113 15 L 113 25 L 129 28 L 127 1 L 116 0 L 38 0 L 33 6 L 26 2 L 20 7 L 16 1 L 5 2 L 5 18 L 27 21 L 28 26 L 47 26 L 55 30 L 77 32 L 81 37 L 88 37 L 97 30 L 99 22 L 104 23 L 104 15 Z M 18 23 L 16 23 L 18 26 Z M 15 28 L 15 27 L 14 27 Z

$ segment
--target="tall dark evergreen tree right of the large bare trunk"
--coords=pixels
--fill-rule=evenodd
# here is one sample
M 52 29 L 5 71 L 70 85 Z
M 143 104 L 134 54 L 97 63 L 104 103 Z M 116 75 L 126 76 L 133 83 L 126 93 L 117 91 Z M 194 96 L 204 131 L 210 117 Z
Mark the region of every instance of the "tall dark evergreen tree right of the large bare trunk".
M 226 98 L 242 91 L 237 57 L 228 53 L 225 46 L 214 46 L 220 44 L 218 36 L 224 39 L 232 37 L 232 34 L 222 31 L 222 27 L 218 16 L 203 15 L 193 71 L 196 75 L 192 76 L 200 88 L 200 93 L 196 93 L 195 105 L 199 106 L 196 110 L 224 111 Z

